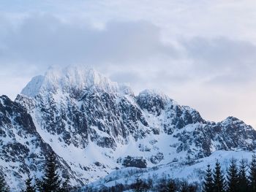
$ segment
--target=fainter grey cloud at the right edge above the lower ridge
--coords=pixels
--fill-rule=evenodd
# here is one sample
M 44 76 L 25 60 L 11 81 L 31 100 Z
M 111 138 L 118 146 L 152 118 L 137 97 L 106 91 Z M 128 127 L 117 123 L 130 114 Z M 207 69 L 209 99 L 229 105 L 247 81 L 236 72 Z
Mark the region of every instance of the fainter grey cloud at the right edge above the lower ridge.
M 256 46 L 251 42 L 217 37 L 183 42 L 193 73 L 218 85 L 237 85 L 255 79 Z

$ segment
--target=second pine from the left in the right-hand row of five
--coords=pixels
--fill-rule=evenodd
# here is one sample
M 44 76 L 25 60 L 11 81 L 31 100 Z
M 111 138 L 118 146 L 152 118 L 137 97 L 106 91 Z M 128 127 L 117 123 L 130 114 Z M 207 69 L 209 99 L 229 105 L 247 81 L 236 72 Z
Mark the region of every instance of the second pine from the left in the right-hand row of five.
M 214 192 L 224 192 L 225 191 L 225 178 L 222 173 L 222 168 L 217 160 L 214 169 Z

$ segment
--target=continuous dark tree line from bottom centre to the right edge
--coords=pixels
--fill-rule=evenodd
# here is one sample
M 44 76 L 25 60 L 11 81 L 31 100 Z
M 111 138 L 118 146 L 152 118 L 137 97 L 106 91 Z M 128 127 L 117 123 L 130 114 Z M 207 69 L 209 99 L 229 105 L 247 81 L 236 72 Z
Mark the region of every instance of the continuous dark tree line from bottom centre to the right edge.
M 236 159 L 232 158 L 224 174 L 219 161 L 216 162 L 214 169 L 208 164 L 203 183 L 188 183 L 185 180 L 142 179 L 136 177 L 131 185 L 117 184 L 112 187 L 86 188 L 86 192 L 121 192 L 132 190 L 135 192 L 157 191 L 157 192 L 256 192 L 256 155 L 252 155 L 252 161 L 247 164 L 245 159 L 241 159 L 237 164 Z

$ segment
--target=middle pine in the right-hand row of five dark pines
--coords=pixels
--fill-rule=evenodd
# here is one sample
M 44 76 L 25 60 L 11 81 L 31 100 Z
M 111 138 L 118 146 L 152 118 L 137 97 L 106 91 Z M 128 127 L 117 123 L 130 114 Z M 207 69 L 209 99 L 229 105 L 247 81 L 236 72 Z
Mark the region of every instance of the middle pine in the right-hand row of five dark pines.
M 227 170 L 227 192 L 238 192 L 238 168 L 234 158 Z

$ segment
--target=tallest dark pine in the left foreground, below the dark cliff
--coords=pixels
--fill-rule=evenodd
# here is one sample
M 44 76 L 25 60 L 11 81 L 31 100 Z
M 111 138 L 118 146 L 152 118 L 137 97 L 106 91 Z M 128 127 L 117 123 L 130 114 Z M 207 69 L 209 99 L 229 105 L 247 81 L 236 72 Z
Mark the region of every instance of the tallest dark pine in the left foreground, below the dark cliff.
M 56 156 L 51 152 L 45 164 L 45 176 L 42 181 L 37 181 L 37 187 L 42 192 L 56 192 L 60 190 L 60 183 L 59 174 L 57 174 Z

